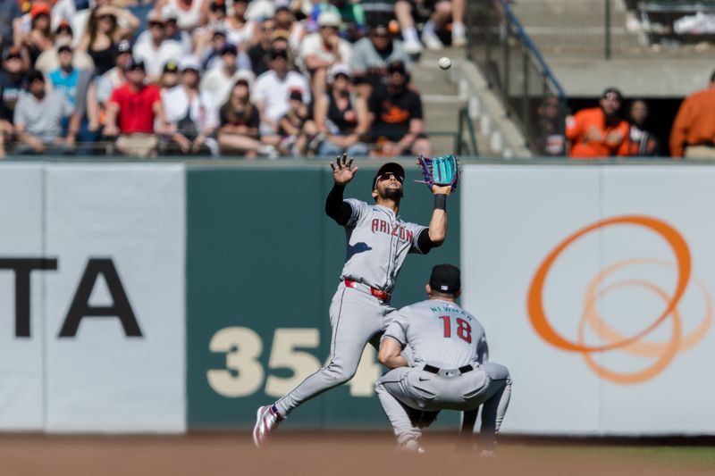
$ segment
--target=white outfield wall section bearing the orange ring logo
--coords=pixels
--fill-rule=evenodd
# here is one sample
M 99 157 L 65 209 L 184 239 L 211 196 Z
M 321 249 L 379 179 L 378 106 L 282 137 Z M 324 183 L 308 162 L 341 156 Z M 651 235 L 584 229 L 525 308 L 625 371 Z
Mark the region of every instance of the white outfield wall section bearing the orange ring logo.
M 467 166 L 462 304 L 514 380 L 504 431 L 715 434 L 715 170 Z

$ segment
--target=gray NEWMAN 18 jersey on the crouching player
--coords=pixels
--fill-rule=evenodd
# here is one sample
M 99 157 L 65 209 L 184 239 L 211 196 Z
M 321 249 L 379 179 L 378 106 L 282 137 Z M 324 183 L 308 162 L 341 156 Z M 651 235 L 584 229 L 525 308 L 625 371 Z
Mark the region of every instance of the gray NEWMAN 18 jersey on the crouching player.
M 428 299 L 400 309 L 385 330 L 413 351 L 413 365 L 429 363 L 442 369 L 458 369 L 467 363 L 485 363 L 488 347 L 482 324 L 449 301 Z

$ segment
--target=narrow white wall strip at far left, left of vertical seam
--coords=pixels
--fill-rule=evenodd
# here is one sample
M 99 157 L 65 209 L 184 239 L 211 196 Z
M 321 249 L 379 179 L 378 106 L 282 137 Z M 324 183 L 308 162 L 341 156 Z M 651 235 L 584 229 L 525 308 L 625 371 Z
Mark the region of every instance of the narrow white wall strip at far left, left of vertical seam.
M 41 288 L 28 271 L 43 256 L 42 171 L 6 164 L 0 173 L 0 430 L 41 430 L 43 347 Z M 29 272 L 29 277 L 27 272 Z M 21 276 L 20 291 L 16 276 Z M 21 309 L 16 309 L 20 298 Z M 29 309 L 28 309 L 29 307 Z M 17 314 L 21 324 L 17 325 Z

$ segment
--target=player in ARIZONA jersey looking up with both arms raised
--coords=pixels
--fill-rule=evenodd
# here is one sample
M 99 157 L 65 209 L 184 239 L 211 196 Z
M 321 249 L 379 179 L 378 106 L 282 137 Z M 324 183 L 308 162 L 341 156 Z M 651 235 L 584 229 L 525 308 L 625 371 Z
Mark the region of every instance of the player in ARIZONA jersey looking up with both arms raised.
M 259 448 L 296 407 L 352 379 L 366 343 L 372 341 L 377 347 L 380 334 L 397 312 L 390 297 L 408 253 L 424 255 L 442 245 L 447 234 L 449 186 L 432 187 L 434 209 L 429 227 L 424 227 L 398 216 L 405 180 L 399 163 L 385 163 L 375 174 L 374 205 L 343 200 L 345 186 L 357 172 L 352 163 L 346 154 L 331 163 L 335 183 L 325 201 L 325 213 L 345 227 L 347 238 L 341 282 L 330 306 L 330 363 L 273 405 L 258 408 L 253 440 Z

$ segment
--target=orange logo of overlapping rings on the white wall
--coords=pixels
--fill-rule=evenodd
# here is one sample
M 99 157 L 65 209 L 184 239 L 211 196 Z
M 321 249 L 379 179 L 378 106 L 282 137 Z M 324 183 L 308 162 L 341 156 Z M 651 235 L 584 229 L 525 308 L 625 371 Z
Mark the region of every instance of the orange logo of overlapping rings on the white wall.
M 669 245 L 675 256 L 675 264 L 668 263 L 662 260 L 638 258 L 625 260 L 611 264 L 604 270 L 601 270 L 589 282 L 584 299 L 584 309 L 581 315 L 581 321 L 578 325 L 578 338 L 569 340 L 565 338 L 557 330 L 553 328 L 551 322 L 547 318 L 546 311 L 543 305 L 543 288 L 551 267 L 559 258 L 568 246 L 574 244 L 579 238 L 595 230 L 601 230 L 611 226 L 630 225 L 644 228 L 652 231 L 660 236 Z M 677 283 L 675 290 L 669 295 L 664 289 L 647 280 L 623 280 L 615 284 L 601 288 L 601 284 L 611 274 L 619 271 L 627 266 L 635 264 L 652 264 L 660 267 L 674 268 L 677 271 Z M 711 297 L 707 290 L 702 285 L 702 282 L 697 278 L 693 278 L 696 286 L 702 292 L 705 298 L 705 314 L 702 321 L 690 334 L 683 336 L 682 322 L 680 313 L 677 310 L 677 305 L 683 294 L 686 291 L 688 282 L 691 280 L 691 256 L 690 249 L 687 246 L 685 238 L 672 226 L 665 221 L 660 221 L 652 217 L 628 215 L 610 218 L 607 220 L 597 221 L 564 239 L 556 246 L 551 253 L 546 256 L 543 263 L 539 266 L 534 274 L 531 286 L 527 296 L 527 312 L 529 320 L 534 326 L 536 333 L 546 342 L 554 347 L 566 350 L 569 352 L 578 352 L 584 355 L 585 361 L 589 368 L 597 375 L 604 379 L 615 381 L 618 383 L 639 383 L 645 380 L 652 379 L 662 372 L 668 364 L 675 358 L 679 351 L 686 350 L 697 344 L 710 328 L 712 320 L 712 303 Z M 622 336 L 617 330 L 614 330 L 604 320 L 601 313 L 597 310 L 598 301 L 617 288 L 644 288 L 653 295 L 658 296 L 665 304 L 664 310 L 658 318 L 644 330 L 637 332 L 632 337 Z M 599 290 L 599 288 L 601 288 Z M 670 339 L 665 343 L 644 342 L 642 339 L 648 336 L 653 330 L 657 329 L 660 324 L 670 319 L 672 322 L 672 331 Z M 605 343 L 600 346 L 588 346 L 585 344 L 585 327 L 588 325 L 595 334 Z M 631 355 L 641 355 L 655 357 L 655 362 L 642 371 L 638 372 L 617 372 L 606 368 L 597 363 L 593 359 L 593 353 L 605 352 L 618 349 L 627 352 Z

